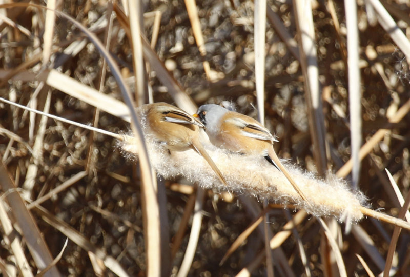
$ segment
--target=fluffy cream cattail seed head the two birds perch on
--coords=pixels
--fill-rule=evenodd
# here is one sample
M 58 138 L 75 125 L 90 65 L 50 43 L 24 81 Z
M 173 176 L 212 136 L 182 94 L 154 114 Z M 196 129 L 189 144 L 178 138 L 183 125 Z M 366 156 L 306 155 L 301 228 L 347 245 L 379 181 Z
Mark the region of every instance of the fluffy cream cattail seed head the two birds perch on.
M 144 125 L 144 120 L 142 123 Z M 203 136 L 206 135 L 203 133 Z M 120 147 L 126 156 L 136 159 L 138 153 L 132 141 L 133 138 L 128 137 L 121 142 Z M 184 176 L 203 188 L 251 194 L 258 199 L 265 198 L 271 202 L 303 208 L 315 216 L 335 216 L 341 222 L 359 221 L 363 216 L 360 212 L 360 206 L 365 201 L 363 194 L 352 192 L 346 182 L 336 177 L 327 181 L 318 180 L 313 174 L 282 161 L 308 197 L 308 204 L 301 199 L 286 177 L 263 157 L 231 153 L 207 144 L 208 153 L 228 182 L 226 187 L 194 150 L 170 152 L 163 143 L 149 135 L 146 136 L 146 143 L 151 165 L 166 179 Z

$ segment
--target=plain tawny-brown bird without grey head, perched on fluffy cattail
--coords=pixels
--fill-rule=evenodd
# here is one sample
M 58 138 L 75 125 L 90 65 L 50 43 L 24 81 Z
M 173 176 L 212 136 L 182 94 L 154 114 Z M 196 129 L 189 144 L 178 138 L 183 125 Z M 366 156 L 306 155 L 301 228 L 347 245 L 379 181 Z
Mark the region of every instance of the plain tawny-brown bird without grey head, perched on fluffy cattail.
M 166 144 L 171 151 L 195 150 L 215 171 L 219 180 L 227 185 L 227 181 L 211 159 L 199 138 L 199 129 L 204 125 L 187 112 L 168 103 L 145 104 L 139 107 L 142 121 L 146 122 L 147 131 L 156 140 Z

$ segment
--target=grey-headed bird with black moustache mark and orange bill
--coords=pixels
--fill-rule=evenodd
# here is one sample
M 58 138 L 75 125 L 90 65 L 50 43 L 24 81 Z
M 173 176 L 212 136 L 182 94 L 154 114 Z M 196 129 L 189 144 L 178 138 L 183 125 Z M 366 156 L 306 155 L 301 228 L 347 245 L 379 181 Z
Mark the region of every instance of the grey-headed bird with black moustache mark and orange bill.
M 273 142 L 277 140 L 258 121 L 215 104 L 200 106 L 193 116 L 203 123 L 213 145 L 245 155 L 262 155 L 283 172 L 302 199 L 309 203 L 288 170 L 279 161 L 273 149 Z

